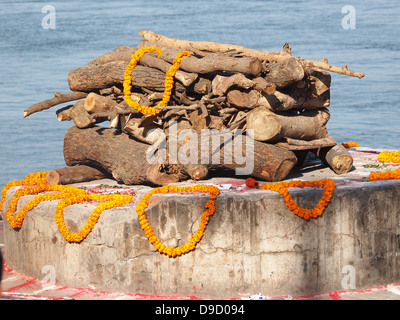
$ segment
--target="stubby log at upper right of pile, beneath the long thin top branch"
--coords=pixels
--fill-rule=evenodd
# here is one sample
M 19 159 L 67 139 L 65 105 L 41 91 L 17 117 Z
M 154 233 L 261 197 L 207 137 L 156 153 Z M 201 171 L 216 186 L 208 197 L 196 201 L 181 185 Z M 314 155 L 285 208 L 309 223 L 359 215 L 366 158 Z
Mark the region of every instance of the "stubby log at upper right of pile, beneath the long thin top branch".
M 274 83 L 277 89 L 286 88 L 304 77 L 303 65 L 296 58 L 269 63 L 265 71 L 265 80 Z

